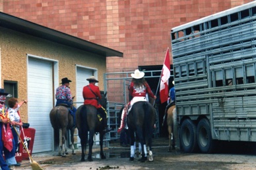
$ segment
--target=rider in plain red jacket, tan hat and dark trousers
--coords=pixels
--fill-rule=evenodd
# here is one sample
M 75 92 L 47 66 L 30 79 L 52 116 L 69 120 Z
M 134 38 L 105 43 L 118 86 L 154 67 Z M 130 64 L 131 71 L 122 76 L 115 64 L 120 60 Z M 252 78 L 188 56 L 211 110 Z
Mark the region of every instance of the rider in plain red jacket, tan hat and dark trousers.
M 84 89 L 82 89 L 84 104 L 90 104 L 97 108 L 98 112 L 103 118 L 103 122 L 105 125 L 104 132 L 107 133 L 111 131 L 112 128 L 108 127 L 108 114 L 105 108 L 103 108 L 102 105 L 98 102 L 102 98 L 102 95 L 100 95 L 100 88 L 96 86 L 95 83 L 98 83 L 99 81 L 94 76 L 91 76 L 86 80 L 89 81 L 89 85 L 84 86 Z

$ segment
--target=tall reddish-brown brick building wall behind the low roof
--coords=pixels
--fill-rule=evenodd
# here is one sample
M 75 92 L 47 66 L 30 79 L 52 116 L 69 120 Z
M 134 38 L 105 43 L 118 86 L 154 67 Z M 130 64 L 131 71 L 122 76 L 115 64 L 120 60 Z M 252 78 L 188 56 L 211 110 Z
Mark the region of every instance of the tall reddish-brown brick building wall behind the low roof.
M 0 11 L 123 52 L 107 58 L 120 72 L 162 65 L 171 28 L 251 1 L 0 0 Z

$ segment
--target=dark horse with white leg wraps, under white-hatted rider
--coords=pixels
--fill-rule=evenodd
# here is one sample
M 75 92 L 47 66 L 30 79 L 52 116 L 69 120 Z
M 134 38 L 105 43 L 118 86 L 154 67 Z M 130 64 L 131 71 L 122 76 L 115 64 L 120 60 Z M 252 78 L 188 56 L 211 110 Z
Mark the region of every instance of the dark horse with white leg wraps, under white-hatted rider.
M 156 119 L 156 110 L 146 101 L 135 102 L 131 108 L 131 112 L 127 116 L 127 125 L 131 137 L 131 157 L 130 161 L 134 160 L 134 142 L 135 134 L 141 143 L 141 162 L 146 161 L 148 152 L 148 160 L 153 161 L 152 157 L 152 135 L 154 123 Z M 147 147 L 146 147 L 147 146 Z

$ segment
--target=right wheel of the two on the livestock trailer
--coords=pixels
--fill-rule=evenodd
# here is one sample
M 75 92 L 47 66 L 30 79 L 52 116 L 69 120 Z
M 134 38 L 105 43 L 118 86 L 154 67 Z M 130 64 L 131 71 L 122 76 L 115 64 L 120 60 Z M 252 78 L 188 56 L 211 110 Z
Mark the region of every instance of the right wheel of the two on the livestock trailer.
M 207 119 L 201 119 L 197 125 L 197 144 L 204 154 L 212 153 L 216 146 L 216 141 L 212 140 L 210 123 Z

